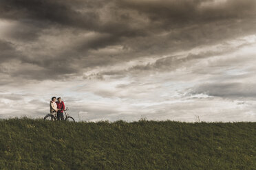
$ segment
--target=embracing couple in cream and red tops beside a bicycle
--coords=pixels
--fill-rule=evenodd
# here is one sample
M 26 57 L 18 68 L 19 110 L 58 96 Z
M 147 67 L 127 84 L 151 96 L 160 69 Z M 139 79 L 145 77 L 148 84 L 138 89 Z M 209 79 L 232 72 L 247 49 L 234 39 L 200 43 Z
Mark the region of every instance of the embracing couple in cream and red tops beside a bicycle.
M 58 101 L 56 101 L 58 100 Z M 52 97 L 52 101 L 50 101 L 50 112 L 51 114 L 54 114 L 54 112 L 57 112 L 57 119 L 58 121 L 61 119 L 64 119 L 63 111 L 65 110 L 64 102 L 61 101 L 61 97 Z

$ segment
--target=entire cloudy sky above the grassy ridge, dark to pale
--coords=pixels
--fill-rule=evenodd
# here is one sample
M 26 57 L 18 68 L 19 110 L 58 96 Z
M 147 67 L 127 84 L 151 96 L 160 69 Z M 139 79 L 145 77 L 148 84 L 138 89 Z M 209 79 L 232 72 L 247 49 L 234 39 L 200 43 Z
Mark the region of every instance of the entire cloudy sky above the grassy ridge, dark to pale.
M 0 118 L 256 121 L 255 0 L 1 0 Z

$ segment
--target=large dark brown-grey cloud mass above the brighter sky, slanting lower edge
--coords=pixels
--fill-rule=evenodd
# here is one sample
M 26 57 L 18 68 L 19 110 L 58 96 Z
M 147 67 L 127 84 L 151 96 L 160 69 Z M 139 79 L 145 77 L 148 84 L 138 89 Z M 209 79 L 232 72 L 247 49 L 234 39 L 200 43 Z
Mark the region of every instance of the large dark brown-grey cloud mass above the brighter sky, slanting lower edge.
M 45 80 L 82 75 L 83 69 L 87 71 L 143 56 L 171 55 L 175 51 L 253 34 L 256 30 L 255 4 L 253 0 L 220 3 L 200 0 L 2 0 L 0 19 L 14 22 L 14 25 L 6 30 L 6 38 L 0 42 L 3 49 L 0 60 L 15 59 L 21 62 L 20 66 L 23 63 L 33 65 L 34 70 L 30 67 L 18 69 L 19 74 L 9 72 L 11 76 Z M 50 29 L 53 31 L 45 31 Z M 95 35 L 83 38 L 88 32 Z M 64 47 L 56 47 L 60 42 L 43 41 L 56 34 L 63 35 L 56 38 L 65 42 Z M 114 45 L 122 50 L 116 53 L 100 51 Z M 182 66 L 179 63 L 206 56 L 164 58 L 154 65 L 138 65 L 127 71 L 160 67 L 164 70 L 164 64 L 166 69 L 178 68 Z

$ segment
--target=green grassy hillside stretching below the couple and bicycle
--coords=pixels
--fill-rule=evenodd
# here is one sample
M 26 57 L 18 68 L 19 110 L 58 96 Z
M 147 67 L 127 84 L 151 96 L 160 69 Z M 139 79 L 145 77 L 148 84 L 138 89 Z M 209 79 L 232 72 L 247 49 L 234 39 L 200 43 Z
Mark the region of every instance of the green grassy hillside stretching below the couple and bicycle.
M 256 169 L 256 123 L 1 120 L 0 169 Z

